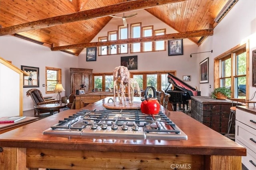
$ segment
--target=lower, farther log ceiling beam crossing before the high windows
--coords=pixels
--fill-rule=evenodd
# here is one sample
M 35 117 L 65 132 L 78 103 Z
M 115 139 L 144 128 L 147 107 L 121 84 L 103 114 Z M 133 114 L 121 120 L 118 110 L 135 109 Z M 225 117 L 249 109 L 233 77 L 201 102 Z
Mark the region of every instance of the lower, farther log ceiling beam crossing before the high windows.
M 196 31 L 186 31 L 182 33 L 172 33 L 166 35 L 155 35 L 152 37 L 140 37 L 140 38 L 129 38 L 115 41 L 102 41 L 102 42 L 93 42 L 93 43 L 82 43 L 74 45 L 65 45 L 59 47 L 52 47 L 52 51 L 67 50 L 67 49 L 83 49 L 87 47 L 100 47 L 100 46 L 109 46 L 109 45 L 122 45 L 130 43 L 141 43 L 141 42 L 150 42 L 150 41 L 163 41 L 163 40 L 173 40 L 173 39 L 185 39 L 193 37 L 203 37 L 213 35 L 213 29 L 202 29 Z

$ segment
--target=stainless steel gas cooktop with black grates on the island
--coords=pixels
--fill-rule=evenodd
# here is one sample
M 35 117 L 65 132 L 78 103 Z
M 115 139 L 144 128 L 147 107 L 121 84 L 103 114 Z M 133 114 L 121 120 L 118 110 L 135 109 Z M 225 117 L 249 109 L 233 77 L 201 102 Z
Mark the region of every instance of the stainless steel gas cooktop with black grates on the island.
M 81 110 L 43 132 L 56 135 L 127 137 L 132 139 L 188 139 L 161 111 L 146 115 L 131 110 Z

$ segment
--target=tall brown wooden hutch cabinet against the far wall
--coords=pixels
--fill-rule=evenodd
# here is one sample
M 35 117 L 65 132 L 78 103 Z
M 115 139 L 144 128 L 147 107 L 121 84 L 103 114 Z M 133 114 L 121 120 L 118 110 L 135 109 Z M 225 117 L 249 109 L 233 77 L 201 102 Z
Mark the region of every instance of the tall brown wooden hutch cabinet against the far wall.
M 76 94 L 76 90 L 80 90 L 81 84 L 84 85 L 85 93 L 92 92 L 92 69 L 86 68 L 70 68 L 70 93 Z

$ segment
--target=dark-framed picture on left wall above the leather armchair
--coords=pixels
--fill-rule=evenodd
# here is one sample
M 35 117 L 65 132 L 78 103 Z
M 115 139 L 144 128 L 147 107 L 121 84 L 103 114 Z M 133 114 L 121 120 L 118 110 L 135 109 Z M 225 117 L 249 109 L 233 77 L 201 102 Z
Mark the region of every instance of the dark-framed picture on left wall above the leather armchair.
M 21 70 L 29 76 L 23 76 L 23 87 L 39 87 L 39 68 L 31 66 L 21 66 Z

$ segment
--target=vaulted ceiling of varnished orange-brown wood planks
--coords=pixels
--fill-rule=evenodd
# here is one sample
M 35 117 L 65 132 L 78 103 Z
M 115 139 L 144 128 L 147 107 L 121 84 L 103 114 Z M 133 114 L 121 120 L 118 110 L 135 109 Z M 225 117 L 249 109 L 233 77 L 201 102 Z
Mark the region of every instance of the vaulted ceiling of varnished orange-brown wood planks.
M 151 2 L 155 5 L 149 8 Z M 0 0 L 0 25 L 2 26 L 0 35 L 3 35 L 4 28 L 10 27 L 12 33 L 7 35 L 20 35 L 48 47 L 90 43 L 112 19 L 109 15 L 138 9 L 146 10 L 180 33 L 214 29 L 217 25 L 214 19 L 228 2 L 228 0 Z M 115 4 L 116 8 L 108 10 L 108 6 Z M 94 17 L 92 14 L 91 19 L 67 22 L 69 14 L 79 14 L 88 10 L 91 10 L 90 13 L 98 12 L 98 16 Z M 17 31 L 19 24 L 31 25 L 30 22 L 41 20 L 40 23 L 43 25 L 44 19 L 63 15 L 67 16 L 65 20 L 57 18 L 58 25 L 48 24 L 40 29 L 32 25 L 29 31 Z M 90 18 L 89 14 L 80 16 Z M 200 45 L 205 35 L 184 38 L 189 38 Z M 78 56 L 84 47 L 86 45 L 77 46 L 76 49 L 66 48 L 64 51 Z

